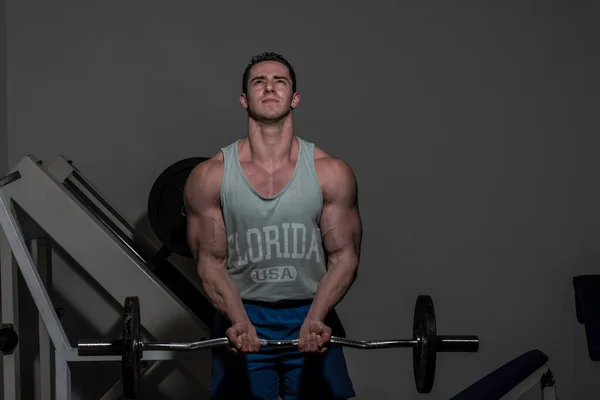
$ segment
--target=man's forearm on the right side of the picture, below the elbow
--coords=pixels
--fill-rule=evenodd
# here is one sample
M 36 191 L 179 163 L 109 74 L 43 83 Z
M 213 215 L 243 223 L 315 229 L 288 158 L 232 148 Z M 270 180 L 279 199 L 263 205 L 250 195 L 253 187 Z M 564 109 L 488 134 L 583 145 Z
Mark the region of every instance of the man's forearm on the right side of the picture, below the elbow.
M 327 273 L 319 282 L 317 293 L 306 316 L 307 320 L 323 321 L 327 314 L 344 298 L 358 269 L 358 257 L 348 250 L 339 259 L 330 262 Z

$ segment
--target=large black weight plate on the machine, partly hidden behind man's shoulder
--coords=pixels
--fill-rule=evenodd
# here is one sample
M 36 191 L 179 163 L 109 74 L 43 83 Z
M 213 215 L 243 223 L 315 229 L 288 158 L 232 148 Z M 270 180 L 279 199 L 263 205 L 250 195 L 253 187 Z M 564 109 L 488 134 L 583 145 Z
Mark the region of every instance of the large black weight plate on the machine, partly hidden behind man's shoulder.
M 156 237 L 171 252 L 191 258 L 183 188 L 190 172 L 206 157 L 192 157 L 170 165 L 156 179 L 148 196 L 148 220 Z

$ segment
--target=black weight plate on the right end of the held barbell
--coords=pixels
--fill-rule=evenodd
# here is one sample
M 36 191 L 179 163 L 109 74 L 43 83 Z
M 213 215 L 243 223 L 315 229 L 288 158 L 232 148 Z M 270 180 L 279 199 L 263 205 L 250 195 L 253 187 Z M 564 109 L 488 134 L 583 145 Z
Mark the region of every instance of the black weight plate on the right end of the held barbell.
M 413 321 L 413 371 L 415 385 L 419 393 L 429 393 L 435 378 L 437 327 L 433 300 L 430 296 L 420 295 L 415 304 Z

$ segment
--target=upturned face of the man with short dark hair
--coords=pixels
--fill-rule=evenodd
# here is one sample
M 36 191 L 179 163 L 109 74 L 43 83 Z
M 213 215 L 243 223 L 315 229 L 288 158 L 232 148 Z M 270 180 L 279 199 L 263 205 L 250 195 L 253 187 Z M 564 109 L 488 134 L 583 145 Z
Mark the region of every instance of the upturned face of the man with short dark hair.
M 240 96 L 240 104 L 251 117 L 260 121 L 279 121 L 300 101 L 292 92 L 292 79 L 287 67 L 277 61 L 262 61 L 250 69 L 248 93 Z

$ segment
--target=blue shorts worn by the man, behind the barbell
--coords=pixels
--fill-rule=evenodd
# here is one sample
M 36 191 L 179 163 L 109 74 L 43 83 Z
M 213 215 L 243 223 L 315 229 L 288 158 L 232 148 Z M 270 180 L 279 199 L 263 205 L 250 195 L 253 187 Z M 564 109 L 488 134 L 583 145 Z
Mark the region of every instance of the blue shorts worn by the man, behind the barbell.
M 297 339 L 310 304 L 271 307 L 245 303 L 244 307 L 260 339 Z M 345 332 L 335 311 L 324 321 L 333 336 Z M 212 337 L 224 337 L 231 323 L 217 313 Z M 355 397 L 342 347 L 324 353 L 300 353 L 294 349 L 261 349 L 257 353 L 232 354 L 212 350 L 213 400 L 333 400 Z

